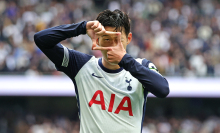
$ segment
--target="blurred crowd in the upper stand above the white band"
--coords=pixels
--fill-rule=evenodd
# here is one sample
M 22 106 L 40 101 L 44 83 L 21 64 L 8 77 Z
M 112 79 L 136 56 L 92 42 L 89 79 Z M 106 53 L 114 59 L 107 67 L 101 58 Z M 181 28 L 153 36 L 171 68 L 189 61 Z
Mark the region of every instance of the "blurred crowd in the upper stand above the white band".
M 0 1 L 0 72 L 57 74 L 35 46 L 33 35 L 52 26 L 94 20 L 107 8 L 120 8 L 131 18 L 133 40 L 127 52 L 133 57 L 151 60 L 167 76 L 220 76 L 218 0 L 105 0 L 101 5 L 97 0 Z M 91 51 L 86 35 L 62 44 L 101 56 L 100 51 Z

